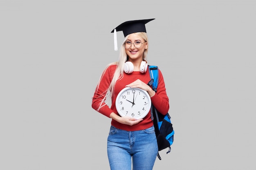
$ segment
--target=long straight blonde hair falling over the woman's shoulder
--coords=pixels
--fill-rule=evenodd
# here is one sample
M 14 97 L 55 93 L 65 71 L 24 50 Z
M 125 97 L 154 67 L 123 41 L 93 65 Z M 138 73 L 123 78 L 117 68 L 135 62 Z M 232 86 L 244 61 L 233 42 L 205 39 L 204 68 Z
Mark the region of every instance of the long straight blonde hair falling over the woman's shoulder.
M 144 32 L 139 32 L 139 33 L 134 33 L 134 34 L 140 36 L 141 38 L 143 38 L 143 39 L 148 43 L 148 36 L 147 36 L 146 33 L 144 33 Z M 103 94 L 101 94 L 101 96 L 103 96 L 104 94 L 106 94 L 106 95 L 105 95 L 105 96 L 103 97 L 103 99 L 101 100 L 101 103 L 100 103 L 100 105 L 99 105 L 97 111 L 99 111 L 99 109 L 100 109 L 101 107 L 103 107 L 104 105 L 106 105 L 106 104 L 110 101 L 110 99 L 111 99 L 111 97 L 112 97 L 112 95 L 113 95 L 113 93 L 114 93 L 115 83 L 117 82 L 117 80 L 119 80 L 119 79 L 121 79 L 121 78 L 124 77 L 124 63 L 128 60 L 128 56 L 127 56 L 127 54 L 126 54 L 126 51 L 125 51 L 125 48 L 124 48 L 124 45 L 123 45 L 123 44 L 124 44 L 125 41 L 128 39 L 128 36 L 129 36 L 129 35 L 127 35 L 127 36 L 124 38 L 124 41 L 123 41 L 123 43 L 122 43 L 122 45 L 121 45 L 121 47 L 120 47 L 120 53 L 119 53 L 118 61 L 117 61 L 117 62 L 113 62 L 113 63 L 109 63 L 109 64 L 106 66 L 106 68 L 105 68 L 105 70 L 103 71 L 103 73 L 101 74 L 101 77 L 100 77 L 99 82 L 98 82 L 98 85 L 97 85 L 97 92 L 98 92 L 99 84 L 101 83 L 101 78 L 102 78 L 103 74 L 106 72 L 107 68 L 108 68 L 110 65 L 117 65 L 117 69 L 116 69 L 116 71 L 115 71 L 115 73 L 114 73 L 114 76 L 113 76 L 113 78 L 112 78 L 112 81 L 111 81 L 111 83 L 110 83 L 110 86 L 108 87 L 108 89 L 107 89 Z M 148 48 L 144 50 L 144 53 L 143 53 L 143 60 L 146 60 L 147 54 L 148 54 Z M 99 97 L 101 97 L 101 96 L 99 96 Z M 103 105 L 104 102 L 105 102 L 105 104 Z

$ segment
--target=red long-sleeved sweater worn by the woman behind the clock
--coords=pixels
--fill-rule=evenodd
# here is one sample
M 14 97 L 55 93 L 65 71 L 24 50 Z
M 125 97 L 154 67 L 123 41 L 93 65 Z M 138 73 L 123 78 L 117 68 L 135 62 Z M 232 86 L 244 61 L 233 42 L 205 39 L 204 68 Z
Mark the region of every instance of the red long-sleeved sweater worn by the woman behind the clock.
M 117 65 L 110 65 L 106 69 L 105 74 L 102 75 L 101 81 L 98 85 L 99 86 L 98 92 L 96 90 L 94 92 L 94 96 L 92 98 L 92 108 L 93 109 L 95 109 L 95 110 L 98 109 L 102 98 L 106 95 L 106 90 L 110 86 L 112 77 L 116 70 L 116 67 L 117 67 Z M 112 101 L 111 107 L 109 108 L 108 105 L 105 105 L 104 107 L 101 107 L 101 109 L 99 110 L 99 113 L 101 113 L 107 117 L 110 117 L 110 113 L 112 113 L 112 112 L 118 114 L 116 106 L 115 106 L 115 100 L 117 98 L 117 94 L 126 85 L 132 83 L 133 81 L 135 81 L 137 79 L 140 79 L 141 81 L 143 81 L 144 83 L 147 84 L 150 81 L 150 75 L 149 75 L 148 70 L 144 74 L 140 73 L 140 72 L 135 72 L 135 71 L 132 72 L 131 74 L 124 73 L 124 78 L 122 78 L 121 80 L 119 79 L 115 84 L 114 94 L 111 98 L 111 101 Z M 103 94 L 103 96 L 102 96 L 102 94 Z M 164 78 L 163 78 L 163 75 L 160 70 L 159 70 L 159 76 L 158 76 L 157 93 L 153 97 L 151 97 L 151 102 L 160 113 L 166 114 L 168 112 L 169 99 L 166 94 Z M 105 104 L 105 103 L 103 103 L 103 104 Z M 126 125 L 126 124 L 121 124 L 113 119 L 111 121 L 111 124 L 118 129 L 123 129 L 126 131 L 138 131 L 138 130 L 147 129 L 147 128 L 153 126 L 153 121 L 151 120 L 150 111 L 149 111 L 148 115 L 146 117 L 144 117 L 143 120 L 141 122 L 139 122 L 138 124 L 130 126 L 130 125 Z

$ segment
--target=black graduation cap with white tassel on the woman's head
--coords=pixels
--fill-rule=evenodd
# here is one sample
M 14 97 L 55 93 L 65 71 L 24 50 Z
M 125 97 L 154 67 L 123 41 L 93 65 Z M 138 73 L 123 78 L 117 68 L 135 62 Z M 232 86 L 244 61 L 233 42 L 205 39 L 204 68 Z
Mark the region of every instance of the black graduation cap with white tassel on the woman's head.
M 124 37 L 131 33 L 138 33 L 138 32 L 145 32 L 146 33 L 146 27 L 145 24 L 155 20 L 153 19 L 146 19 L 146 20 L 133 20 L 133 21 L 126 21 L 116 28 L 114 28 L 111 33 L 114 33 L 114 44 L 115 44 L 115 50 L 117 51 L 117 31 L 123 31 Z

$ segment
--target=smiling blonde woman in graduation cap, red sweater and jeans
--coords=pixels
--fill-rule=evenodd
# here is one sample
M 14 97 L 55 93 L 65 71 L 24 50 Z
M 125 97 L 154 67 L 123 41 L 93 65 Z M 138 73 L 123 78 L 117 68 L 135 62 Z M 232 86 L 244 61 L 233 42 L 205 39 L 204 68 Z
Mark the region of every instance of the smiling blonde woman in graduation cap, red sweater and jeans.
M 169 110 L 160 70 L 157 92 L 148 85 L 151 78 L 146 62 L 148 37 L 145 24 L 151 20 L 154 19 L 127 21 L 112 31 L 123 31 L 124 43 L 118 61 L 110 63 L 103 71 L 92 97 L 92 108 L 112 119 L 107 143 L 111 170 L 131 170 L 131 167 L 133 170 L 152 170 L 157 157 L 157 139 L 150 111 L 144 118 L 120 116 L 115 103 L 122 89 L 136 87 L 148 93 L 160 113 Z M 111 99 L 111 107 L 106 104 L 108 99 Z M 132 107 L 136 103 L 134 97 L 131 100 L 128 102 Z

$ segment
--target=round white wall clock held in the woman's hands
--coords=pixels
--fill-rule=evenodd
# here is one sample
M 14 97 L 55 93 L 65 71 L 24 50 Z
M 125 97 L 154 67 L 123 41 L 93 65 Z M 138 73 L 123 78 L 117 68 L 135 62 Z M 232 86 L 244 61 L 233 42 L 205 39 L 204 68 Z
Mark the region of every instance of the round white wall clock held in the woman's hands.
M 125 87 L 117 95 L 116 108 L 120 116 L 144 118 L 151 108 L 151 99 L 143 89 Z

